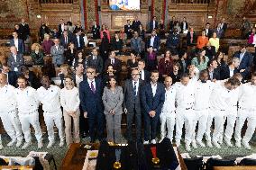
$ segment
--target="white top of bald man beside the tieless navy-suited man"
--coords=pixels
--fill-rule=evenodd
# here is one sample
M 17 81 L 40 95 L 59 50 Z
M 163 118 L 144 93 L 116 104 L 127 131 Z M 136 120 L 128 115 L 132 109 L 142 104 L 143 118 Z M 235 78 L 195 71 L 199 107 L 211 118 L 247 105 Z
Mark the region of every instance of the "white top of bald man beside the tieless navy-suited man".
M 165 89 L 165 101 L 162 106 L 162 112 L 174 112 L 175 111 L 175 96 L 176 89 L 170 87 Z

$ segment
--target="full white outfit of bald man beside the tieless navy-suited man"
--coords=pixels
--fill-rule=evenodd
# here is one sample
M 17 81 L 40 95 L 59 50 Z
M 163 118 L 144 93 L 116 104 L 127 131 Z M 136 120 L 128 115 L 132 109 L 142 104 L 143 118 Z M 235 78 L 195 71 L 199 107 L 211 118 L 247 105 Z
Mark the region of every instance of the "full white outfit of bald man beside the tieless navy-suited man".
M 175 88 L 170 87 L 169 90 L 165 89 L 165 102 L 160 113 L 160 136 L 161 139 L 166 137 L 166 127 L 168 130 L 167 138 L 172 141 L 173 130 L 175 125 Z

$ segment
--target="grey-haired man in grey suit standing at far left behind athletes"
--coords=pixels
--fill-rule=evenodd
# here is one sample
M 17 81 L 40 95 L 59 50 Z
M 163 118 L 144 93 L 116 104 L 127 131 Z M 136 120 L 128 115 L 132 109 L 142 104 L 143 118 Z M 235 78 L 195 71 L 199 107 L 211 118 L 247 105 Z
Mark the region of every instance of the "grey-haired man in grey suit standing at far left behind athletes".
M 23 54 L 18 53 L 15 46 L 12 46 L 10 50 L 11 50 L 11 55 L 8 58 L 7 65 L 8 67 L 11 67 L 12 71 L 20 72 L 21 67 L 24 64 Z

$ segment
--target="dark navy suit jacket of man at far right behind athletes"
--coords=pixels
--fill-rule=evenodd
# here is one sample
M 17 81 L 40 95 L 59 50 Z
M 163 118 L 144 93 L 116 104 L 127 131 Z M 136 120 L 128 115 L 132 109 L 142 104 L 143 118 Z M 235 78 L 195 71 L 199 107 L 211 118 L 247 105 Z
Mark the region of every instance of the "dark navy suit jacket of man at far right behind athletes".
M 241 51 L 236 51 L 233 54 L 233 57 L 240 58 L 240 54 L 241 54 Z M 238 67 L 238 71 L 240 71 L 241 69 L 245 69 L 245 71 L 241 73 L 242 77 L 248 76 L 250 74 L 252 63 L 253 63 L 253 56 L 251 55 L 250 52 L 246 51 Z

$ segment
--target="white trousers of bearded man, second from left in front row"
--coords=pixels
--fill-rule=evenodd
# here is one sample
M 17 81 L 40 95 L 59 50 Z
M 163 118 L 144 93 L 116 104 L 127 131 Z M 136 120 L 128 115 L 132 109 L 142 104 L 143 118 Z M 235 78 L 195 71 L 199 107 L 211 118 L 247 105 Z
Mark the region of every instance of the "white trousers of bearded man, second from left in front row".
M 24 139 L 26 142 L 32 141 L 32 134 L 30 125 L 34 129 L 34 135 L 38 142 L 41 142 L 41 127 L 39 123 L 39 114 L 38 111 L 34 112 L 19 112 L 19 119 L 22 124 L 22 130 L 24 134 Z

